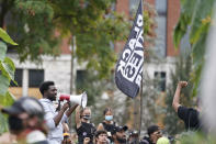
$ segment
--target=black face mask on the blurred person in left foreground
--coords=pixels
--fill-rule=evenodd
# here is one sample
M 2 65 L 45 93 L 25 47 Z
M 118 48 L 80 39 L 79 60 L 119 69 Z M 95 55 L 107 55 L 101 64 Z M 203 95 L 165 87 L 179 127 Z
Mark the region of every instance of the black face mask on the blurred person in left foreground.
M 9 128 L 11 131 L 15 131 L 15 132 L 20 132 L 24 130 L 22 120 L 13 115 L 9 117 Z

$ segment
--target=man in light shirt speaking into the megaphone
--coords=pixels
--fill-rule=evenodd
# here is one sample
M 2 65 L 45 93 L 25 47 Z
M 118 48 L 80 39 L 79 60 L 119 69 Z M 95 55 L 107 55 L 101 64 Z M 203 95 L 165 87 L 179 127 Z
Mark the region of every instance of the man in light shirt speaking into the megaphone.
M 67 121 L 78 104 L 70 107 L 70 101 L 67 101 L 59 111 L 56 111 L 53 104 L 53 101 L 57 99 L 57 88 L 54 81 L 44 81 L 39 86 L 39 91 L 43 95 L 43 99 L 39 102 L 44 107 L 45 121 L 49 129 L 47 140 L 50 144 L 61 144 L 64 140 L 62 122 Z

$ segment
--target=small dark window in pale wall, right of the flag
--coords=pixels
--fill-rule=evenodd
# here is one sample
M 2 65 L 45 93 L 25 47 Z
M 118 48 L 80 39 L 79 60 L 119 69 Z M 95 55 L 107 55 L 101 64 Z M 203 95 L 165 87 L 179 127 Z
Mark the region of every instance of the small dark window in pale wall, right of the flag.
M 159 91 L 166 91 L 166 73 L 164 71 L 155 71 L 155 87 Z

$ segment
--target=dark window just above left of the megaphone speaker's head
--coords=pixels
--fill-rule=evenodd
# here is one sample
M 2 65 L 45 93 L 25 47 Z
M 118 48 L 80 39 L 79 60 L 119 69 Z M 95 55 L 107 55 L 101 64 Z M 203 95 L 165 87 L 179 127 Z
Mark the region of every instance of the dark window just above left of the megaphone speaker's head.
M 30 69 L 29 70 L 29 87 L 37 88 L 44 81 L 44 70 Z

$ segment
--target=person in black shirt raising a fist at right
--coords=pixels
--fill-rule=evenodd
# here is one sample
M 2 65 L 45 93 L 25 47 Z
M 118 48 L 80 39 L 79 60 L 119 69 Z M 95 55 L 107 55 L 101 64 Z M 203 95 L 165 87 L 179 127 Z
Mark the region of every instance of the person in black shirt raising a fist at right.
M 174 111 L 178 113 L 178 117 L 184 121 L 185 129 L 196 131 L 201 129 L 201 119 L 200 119 L 201 109 L 197 108 L 197 110 L 195 110 L 193 108 L 186 108 L 180 104 L 181 89 L 186 86 L 187 86 L 186 81 L 179 81 L 172 101 L 172 107 Z

